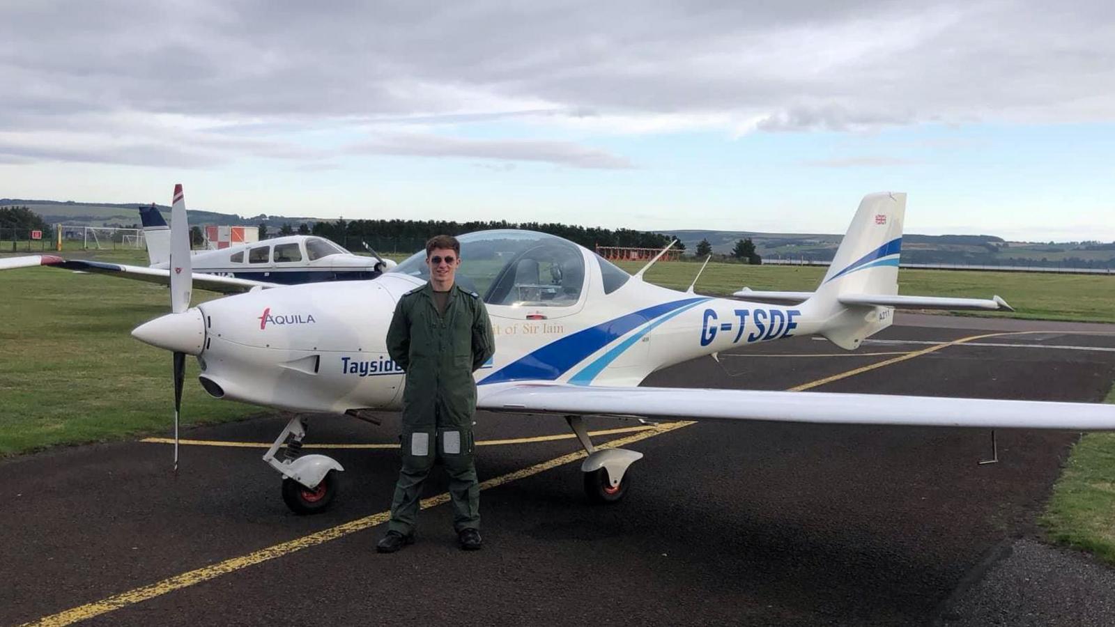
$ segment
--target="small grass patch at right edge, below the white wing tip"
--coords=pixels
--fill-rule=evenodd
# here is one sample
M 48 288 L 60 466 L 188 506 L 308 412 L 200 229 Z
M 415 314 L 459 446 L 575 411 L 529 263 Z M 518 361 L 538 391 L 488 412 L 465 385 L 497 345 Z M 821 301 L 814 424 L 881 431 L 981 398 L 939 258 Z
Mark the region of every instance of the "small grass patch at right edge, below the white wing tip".
M 1106 403 L 1115 403 L 1115 386 Z M 1039 519 L 1057 543 L 1115 565 L 1115 433 L 1089 433 L 1073 446 Z

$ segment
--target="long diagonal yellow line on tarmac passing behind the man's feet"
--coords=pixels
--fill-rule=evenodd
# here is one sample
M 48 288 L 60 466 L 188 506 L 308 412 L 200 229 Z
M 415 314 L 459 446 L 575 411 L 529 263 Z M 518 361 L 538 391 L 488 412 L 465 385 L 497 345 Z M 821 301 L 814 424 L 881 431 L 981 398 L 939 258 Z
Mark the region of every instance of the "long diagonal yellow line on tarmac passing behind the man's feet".
M 794 392 L 801 392 L 801 390 L 804 390 L 804 389 L 812 389 L 814 387 L 824 385 L 826 383 L 832 383 L 832 382 L 840 380 L 840 379 L 843 379 L 843 378 L 847 378 L 847 377 L 851 377 L 851 376 L 854 376 L 854 375 L 857 375 L 857 374 L 861 374 L 861 373 L 866 373 L 869 370 L 873 370 L 873 369 L 876 369 L 876 368 L 882 368 L 884 366 L 889 366 L 889 365 L 892 365 L 892 364 L 898 364 L 900 361 L 905 361 L 906 359 L 913 359 L 914 357 L 918 357 L 918 356 L 921 356 L 921 355 L 928 355 L 930 353 L 934 353 L 937 350 L 941 350 L 943 348 L 948 348 L 949 346 L 954 346 L 957 344 L 963 344 L 966 341 L 972 341 L 972 340 L 976 340 L 976 339 L 981 339 L 981 338 L 985 338 L 985 337 L 993 337 L 993 336 L 999 336 L 999 335 L 1010 335 L 1010 334 L 989 334 L 989 335 L 981 335 L 981 336 L 972 336 L 972 337 L 961 338 L 961 339 L 951 341 L 949 344 L 943 344 L 943 345 L 940 345 L 940 346 L 933 346 L 933 347 L 930 347 L 930 348 L 925 348 L 923 350 L 917 350 L 917 351 L 903 355 L 901 357 L 896 357 L 894 359 L 885 359 L 883 361 L 880 361 L 878 364 L 873 364 L 871 366 L 864 366 L 862 368 L 855 368 L 854 370 L 847 370 L 846 373 L 841 373 L 841 374 L 837 374 L 837 375 L 833 375 L 831 377 L 825 377 L 823 379 L 817 379 L 817 380 L 814 380 L 814 382 L 802 384 L 802 385 L 792 387 L 789 389 L 794 390 Z M 628 444 L 632 444 L 634 442 L 639 442 L 641 440 L 647 440 L 647 438 L 653 437 L 656 435 L 661 435 L 663 433 L 669 433 L 671 431 L 676 431 L 676 430 L 679 430 L 679 428 L 682 428 L 682 427 L 687 427 L 687 426 L 690 426 L 690 425 L 694 425 L 694 424 L 697 424 L 696 421 L 678 421 L 678 422 L 672 422 L 672 423 L 662 423 L 662 424 L 659 424 L 657 426 L 653 426 L 653 427 L 650 427 L 648 430 L 644 430 L 644 431 L 642 431 L 640 433 L 636 433 L 636 434 L 629 435 L 627 437 L 620 437 L 618 440 L 613 440 L 613 441 L 608 442 L 605 444 L 600 444 L 597 447 L 598 448 L 615 448 L 615 447 L 619 447 L 619 446 L 624 446 L 624 445 L 628 445 Z M 546 437 L 546 436 L 542 436 L 542 437 Z M 534 464 L 532 466 L 527 466 L 525 469 L 522 469 L 522 470 L 518 470 L 518 471 L 515 471 L 515 472 L 511 472 L 511 473 L 507 473 L 507 474 L 504 474 L 504 475 L 500 475 L 500 476 L 489 479 L 487 481 L 484 481 L 484 482 L 481 483 L 479 489 L 481 490 L 488 490 L 491 488 L 496 488 L 496 486 L 500 486 L 500 485 L 504 485 L 506 483 L 511 483 L 512 481 L 516 481 L 516 480 L 520 480 L 520 479 L 525 479 L 527 476 L 532 476 L 532 475 L 539 474 L 541 472 L 544 472 L 544 471 L 547 471 L 547 470 L 551 470 L 551 469 L 554 469 L 554 467 L 558 467 L 558 466 L 561 466 L 561 465 L 564 465 L 564 464 L 569 464 L 571 462 L 575 462 L 575 461 L 581 460 L 581 459 L 583 459 L 585 456 L 586 456 L 586 454 L 585 454 L 584 451 L 576 451 L 576 452 L 570 453 L 568 455 L 562 455 L 560 457 L 554 457 L 553 460 L 550 460 L 550 461 L 546 461 L 546 462 L 542 462 L 542 463 L 539 463 L 539 464 Z M 436 496 L 430 496 L 428 499 L 423 499 L 423 501 L 420 503 L 420 508 L 424 509 L 424 510 L 426 510 L 426 509 L 429 509 L 429 508 L 433 508 L 433 507 L 436 507 L 436 505 L 440 505 L 440 504 L 447 503 L 447 502 L 449 502 L 449 494 L 448 494 L 448 492 L 443 492 L 443 493 L 440 493 L 440 494 L 438 494 Z M 379 512 L 379 513 L 375 513 L 375 514 L 371 514 L 369 517 L 365 517 L 365 518 L 360 518 L 360 519 L 357 519 L 357 520 L 352 520 L 352 521 L 346 522 L 343 524 L 339 524 L 337 527 L 331 527 L 329 529 L 324 529 L 322 531 L 318 531 L 318 532 L 311 533 L 309 536 L 303 536 L 301 538 L 297 538 L 294 540 L 290 540 L 288 542 L 282 542 L 282 543 L 279 543 L 279 544 L 274 544 L 272 547 L 268 547 L 265 549 L 260 549 L 259 551 L 254 551 L 254 552 L 248 553 L 245 556 L 240 556 L 240 557 L 231 558 L 231 559 L 224 560 L 222 562 L 217 562 L 217 563 L 214 563 L 214 565 L 205 566 L 205 567 L 202 567 L 202 568 L 198 568 L 198 569 L 195 569 L 195 570 L 191 570 L 188 572 L 183 572 L 182 575 L 176 575 L 174 577 L 169 577 L 169 578 L 164 579 L 162 581 L 158 581 L 156 583 L 152 583 L 149 586 L 143 586 L 140 588 L 135 588 L 135 589 L 128 590 L 126 592 L 120 592 L 119 595 L 114 595 L 112 597 L 101 599 L 99 601 L 94 601 L 94 602 L 90 602 L 90 604 L 86 604 L 86 605 L 83 605 L 83 606 L 75 607 L 72 609 L 60 611 L 58 614 L 54 614 L 54 615 L 50 615 L 50 616 L 45 616 L 45 617 L 42 617 L 42 618 L 40 618 L 38 620 L 35 620 L 32 623 L 26 623 L 23 625 L 23 627 L 28 627 L 28 626 L 51 626 L 51 627 L 54 627 L 54 626 L 61 626 L 61 625 L 72 625 L 74 623 L 78 623 L 80 620 L 87 620 L 89 618 L 93 618 L 93 617 L 96 617 L 96 616 L 100 616 L 103 614 L 107 614 L 109 611 L 115 611 L 117 609 L 122 609 L 122 608 L 130 606 L 130 605 L 135 605 L 135 604 L 138 604 L 138 602 L 151 600 L 151 599 L 154 599 L 156 597 L 161 597 L 163 595 L 166 595 L 168 592 L 173 592 L 175 590 L 181 590 L 183 588 L 188 588 L 190 586 L 194 586 L 196 583 L 209 581 L 211 579 L 215 579 L 217 577 L 221 577 L 222 575 L 227 575 L 230 572 L 234 572 L 236 570 L 241 570 L 243 568 L 248 568 L 248 567 L 254 566 L 256 563 L 262 563 L 262 562 L 265 562 L 265 561 L 279 558 L 279 557 L 288 556 L 290 553 L 293 553 L 293 552 L 297 552 L 297 551 L 301 551 L 302 549 L 308 549 L 310 547 L 317 547 L 318 544 L 322 544 L 324 542 L 329 542 L 330 540 L 336 540 L 338 538 L 342 538 L 342 537 L 348 536 L 350 533 L 356 533 L 357 531 L 363 531 L 366 529 L 370 529 L 372 527 L 376 527 L 376 525 L 379 525 L 379 524 L 382 524 L 382 523 L 387 522 L 390 518 L 391 518 L 391 512 L 390 511 L 382 511 L 382 512 Z

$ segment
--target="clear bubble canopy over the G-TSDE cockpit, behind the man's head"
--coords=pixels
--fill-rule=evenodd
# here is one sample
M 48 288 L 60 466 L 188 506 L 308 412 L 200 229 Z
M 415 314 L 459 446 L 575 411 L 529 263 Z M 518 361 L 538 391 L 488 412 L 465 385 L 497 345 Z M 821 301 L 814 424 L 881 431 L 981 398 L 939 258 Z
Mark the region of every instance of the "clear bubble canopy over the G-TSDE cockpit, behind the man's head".
M 457 284 L 479 293 L 487 305 L 570 307 L 581 299 L 584 253 L 569 240 L 507 229 L 468 233 L 457 241 Z M 426 251 L 407 258 L 391 272 L 429 280 Z

